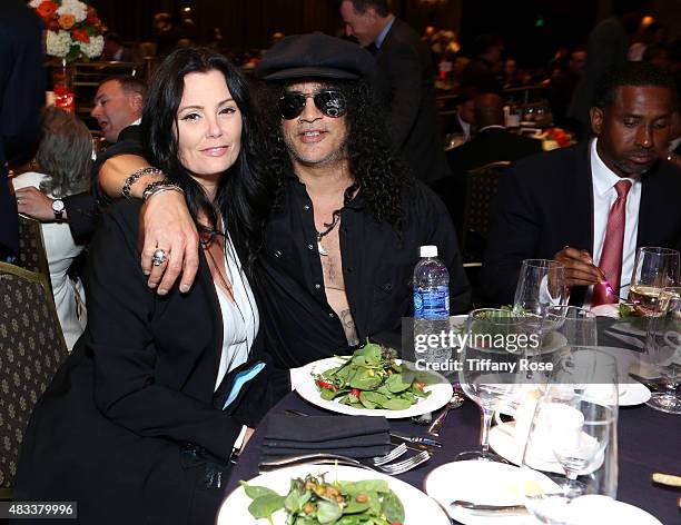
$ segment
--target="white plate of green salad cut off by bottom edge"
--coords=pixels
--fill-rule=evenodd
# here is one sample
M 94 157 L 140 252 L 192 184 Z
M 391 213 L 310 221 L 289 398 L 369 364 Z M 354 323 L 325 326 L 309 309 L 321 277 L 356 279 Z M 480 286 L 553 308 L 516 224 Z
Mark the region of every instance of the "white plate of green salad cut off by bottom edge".
M 217 525 L 448 525 L 437 503 L 384 474 L 297 465 L 240 482 Z

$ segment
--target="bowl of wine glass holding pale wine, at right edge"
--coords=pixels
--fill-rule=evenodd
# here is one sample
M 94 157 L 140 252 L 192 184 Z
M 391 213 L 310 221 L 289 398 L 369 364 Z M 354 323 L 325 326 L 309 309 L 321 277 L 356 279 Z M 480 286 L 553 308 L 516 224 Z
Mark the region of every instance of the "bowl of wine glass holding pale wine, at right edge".
M 679 251 L 643 247 L 636 250 L 629 301 L 641 316 L 654 315 L 660 290 L 679 283 Z

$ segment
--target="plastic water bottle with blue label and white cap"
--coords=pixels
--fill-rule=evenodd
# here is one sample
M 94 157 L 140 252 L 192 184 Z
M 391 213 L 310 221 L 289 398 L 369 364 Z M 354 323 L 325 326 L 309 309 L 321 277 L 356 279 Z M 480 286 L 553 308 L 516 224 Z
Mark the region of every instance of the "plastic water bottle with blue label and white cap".
M 414 348 L 416 359 L 443 363 L 452 349 L 450 331 L 450 274 L 437 258 L 437 246 L 422 246 L 414 268 Z M 444 338 L 441 335 L 444 334 Z M 431 337 L 428 337 L 431 336 Z M 432 336 L 437 337 L 437 341 Z

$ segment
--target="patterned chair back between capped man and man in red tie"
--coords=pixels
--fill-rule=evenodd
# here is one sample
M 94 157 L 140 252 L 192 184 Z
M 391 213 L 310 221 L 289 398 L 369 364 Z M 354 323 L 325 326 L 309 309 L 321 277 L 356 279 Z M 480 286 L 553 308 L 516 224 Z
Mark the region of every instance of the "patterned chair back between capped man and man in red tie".
M 462 250 L 464 260 L 481 260 L 490 231 L 491 208 L 509 161 L 491 162 L 468 171 Z

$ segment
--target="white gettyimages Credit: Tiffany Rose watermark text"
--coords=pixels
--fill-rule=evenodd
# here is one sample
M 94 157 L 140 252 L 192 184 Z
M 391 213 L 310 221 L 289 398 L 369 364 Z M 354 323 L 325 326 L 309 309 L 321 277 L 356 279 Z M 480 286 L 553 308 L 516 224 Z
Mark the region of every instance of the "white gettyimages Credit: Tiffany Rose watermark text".
M 434 372 L 490 372 L 514 374 L 522 372 L 552 372 L 552 363 L 541 363 L 517 353 L 536 350 L 541 346 L 539 334 L 461 334 L 443 330 L 438 334 L 414 336 L 415 366 L 417 370 Z M 463 348 L 475 348 L 476 353 L 490 353 L 488 358 L 456 359 L 452 351 L 461 354 Z M 495 351 L 503 350 L 503 351 Z

